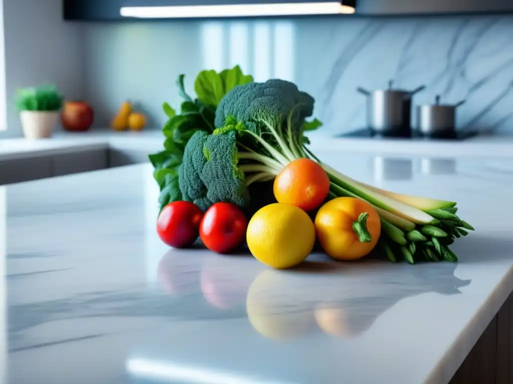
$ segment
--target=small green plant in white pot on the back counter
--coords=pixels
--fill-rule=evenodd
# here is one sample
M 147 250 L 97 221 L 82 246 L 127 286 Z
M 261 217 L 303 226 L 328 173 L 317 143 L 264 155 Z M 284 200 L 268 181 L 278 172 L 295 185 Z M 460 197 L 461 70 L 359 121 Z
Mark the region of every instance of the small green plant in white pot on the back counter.
M 40 86 L 18 90 L 16 110 L 22 120 L 27 139 L 50 137 L 57 123 L 63 97 L 55 86 Z

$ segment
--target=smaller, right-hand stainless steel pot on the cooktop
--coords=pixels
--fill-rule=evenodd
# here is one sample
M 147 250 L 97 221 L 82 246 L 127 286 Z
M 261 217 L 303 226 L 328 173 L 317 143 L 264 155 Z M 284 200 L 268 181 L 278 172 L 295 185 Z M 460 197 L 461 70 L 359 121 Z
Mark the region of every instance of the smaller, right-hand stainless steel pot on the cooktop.
M 446 134 L 456 130 L 456 109 L 465 100 L 454 105 L 440 104 L 440 96 L 435 104 L 417 106 L 417 130 L 423 135 Z

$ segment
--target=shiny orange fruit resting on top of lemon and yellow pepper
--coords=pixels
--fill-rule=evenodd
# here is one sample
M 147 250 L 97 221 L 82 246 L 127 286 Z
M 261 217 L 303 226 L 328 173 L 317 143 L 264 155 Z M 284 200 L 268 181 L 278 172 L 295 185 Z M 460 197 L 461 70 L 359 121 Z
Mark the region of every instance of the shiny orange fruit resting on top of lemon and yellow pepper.
M 305 211 L 319 208 L 328 192 L 329 178 L 326 171 L 310 159 L 292 161 L 274 179 L 276 200 Z

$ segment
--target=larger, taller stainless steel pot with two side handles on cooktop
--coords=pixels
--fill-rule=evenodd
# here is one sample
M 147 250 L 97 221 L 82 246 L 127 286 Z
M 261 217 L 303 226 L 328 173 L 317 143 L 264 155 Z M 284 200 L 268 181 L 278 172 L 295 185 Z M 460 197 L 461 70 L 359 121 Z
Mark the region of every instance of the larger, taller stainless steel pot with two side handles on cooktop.
M 413 91 L 392 89 L 392 81 L 387 90 L 367 91 L 358 87 L 357 91 L 367 96 L 367 126 L 380 133 L 410 129 L 411 97 L 422 91 L 421 86 Z

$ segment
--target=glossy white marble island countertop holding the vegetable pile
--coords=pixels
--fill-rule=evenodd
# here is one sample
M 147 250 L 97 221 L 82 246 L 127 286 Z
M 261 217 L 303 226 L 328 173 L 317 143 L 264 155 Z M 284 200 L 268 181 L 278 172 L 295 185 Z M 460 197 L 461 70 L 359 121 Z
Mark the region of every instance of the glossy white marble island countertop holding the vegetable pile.
M 513 161 L 424 172 L 402 160 L 377 177 L 387 158 L 323 158 L 362 181 L 457 199 L 476 227 L 452 248 L 461 262 L 313 254 L 275 271 L 248 254 L 172 250 L 154 230 L 148 164 L 0 187 L 4 382 L 448 382 L 513 290 Z

